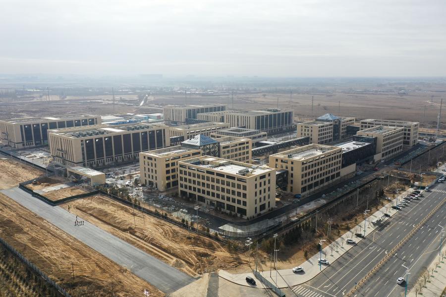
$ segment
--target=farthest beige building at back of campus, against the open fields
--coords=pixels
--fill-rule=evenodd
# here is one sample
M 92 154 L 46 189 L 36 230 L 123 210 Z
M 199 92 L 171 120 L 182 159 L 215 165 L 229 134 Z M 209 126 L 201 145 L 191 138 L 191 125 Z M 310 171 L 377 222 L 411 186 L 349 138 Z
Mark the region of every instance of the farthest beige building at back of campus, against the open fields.
M 223 104 L 168 105 L 164 107 L 164 121 L 168 125 L 184 125 L 186 119 L 197 119 L 199 113 L 223 110 Z

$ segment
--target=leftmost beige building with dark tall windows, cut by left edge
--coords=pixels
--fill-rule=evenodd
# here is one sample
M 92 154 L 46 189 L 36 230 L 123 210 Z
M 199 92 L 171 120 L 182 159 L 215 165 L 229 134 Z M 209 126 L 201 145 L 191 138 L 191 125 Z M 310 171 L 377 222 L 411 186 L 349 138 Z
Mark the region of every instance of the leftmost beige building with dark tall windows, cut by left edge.
M 30 148 L 48 144 L 49 129 L 101 124 L 101 116 L 73 114 L 30 117 L 0 121 L 0 140 L 12 148 Z

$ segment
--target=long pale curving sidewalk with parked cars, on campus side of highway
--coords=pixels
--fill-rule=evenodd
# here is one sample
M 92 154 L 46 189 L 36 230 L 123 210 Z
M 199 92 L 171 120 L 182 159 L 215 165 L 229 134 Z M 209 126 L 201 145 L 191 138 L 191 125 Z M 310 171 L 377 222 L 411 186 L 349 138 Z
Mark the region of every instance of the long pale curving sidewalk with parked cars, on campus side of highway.
M 403 197 L 407 196 L 407 194 L 409 194 L 411 192 L 412 192 L 412 189 L 409 188 L 407 191 L 398 195 L 397 198 L 393 199 L 391 202 L 387 203 L 385 206 L 381 207 L 378 211 L 376 211 L 375 213 L 373 213 L 369 217 L 367 217 L 365 236 L 369 235 L 376 228 L 379 227 L 379 225 L 374 227 L 371 224 L 371 222 L 381 218 L 384 213 L 388 213 L 388 214 L 390 214 L 390 216 L 395 215 L 398 211 L 395 209 L 392 209 L 391 206 L 395 204 L 396 200 L 400 201 Z M 383 222 L 385 222 L 386 220 L 389 219 L 388 217 L 384 217 L 384 218 L 385 219 L 383 220 Z M 342 235 L 337 240 L 335 240 L 332 244 L 323 248 L 322 249 L 322 258 L 326 258 L 327 260 L 329 260 L 329 262 L 331 264 L 337 258 L 339 258 L 342 254 L 344 254 L 347 250 L 354 247 L 354 245 L 347 244 L 345 242 L 347 239 L 351 238 L 354 241 L 356 241 L 356 243 L 363 240 L 361 238 L 355 237 L 354 236 L 355 233 L 364 234 L 364 221 L 361 221 L 355 227 L 353 227 L 350 231 L 346 232 L 344 235 Z M 325 245 L 323 245 L 323 246 L 325 246 Z M 313 255 L 311 258 L 309 258 L 307 261 L 305 261 L 303 263 L 296 263 L 293 266 L 293 267 L 301 266 L 303 268 L 304 272 L 294 273 L 291 270 L 293 267 L 289 267 L 288 269 L 278 270 L 277 276 L 276 276 L 275 270 L 273 270 L 271 272 L 271 277 L 270 277 L 269 270 L 262 271 L 261 273 L 268 281 L 270 281 L 273 284 L 276 284 L 278 288 L 293 287 L 293 286 L 308 282 L 309 280 L 311 280 L 312 278 L 314 278 L 316 275 L 318 275 L 321 272 L 319 263 L 318 263 L 319 258 L 320 258 L 320 253 L 317 253 L 317 254 Z M 324 265 L 324 264 L 321 265 L 322 270 L 324 270 L 326 267 L 327 267 L 327 265 Z M 220 270 L 219 276 L 222 277 L 223 279 L 226 279 L 226 280 L 232 282 L 232 283 L 242 285 L 242 286 L 247 286 L 247 287 L 252 287 L 252 286 L 249 286 L 248 283 L 246 283 L 245 278 L 247 276 L 251 276 L 252 278 L 256 279 L 252 272 L 231 274 L 227 271 Z M 277 282 L 276 282 L 276 278 L 277 278 Z M 259 280 L 257 280 L 256 282 L 257 282 L 257 285 L 255 286 L 256 288 L 260 288 L 260 289 L 265 288 L 264 285 Z

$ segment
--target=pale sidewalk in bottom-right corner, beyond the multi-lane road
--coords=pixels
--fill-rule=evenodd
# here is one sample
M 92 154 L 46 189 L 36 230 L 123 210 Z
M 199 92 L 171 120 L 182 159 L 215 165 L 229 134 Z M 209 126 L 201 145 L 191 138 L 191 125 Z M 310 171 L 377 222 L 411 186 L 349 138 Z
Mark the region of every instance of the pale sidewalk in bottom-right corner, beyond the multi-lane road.
M 446 246 L 443 246 L 443 252 L 446 252 Z M 430 283 L 426 282 L 425 288 L 421 292 L 418 292 L 418 297 L 441 297 L 443 291 L 446 288 L 446 257 L 443 259 L 443 263 L 437 267 L 439 256 L 435 257 L 434 261 L 429 265 L 429 272 L 431 276 L 429 278 Z M 432 274 L 432 269 L 434 273 Z M 420 279 L 423 279 L 422 277 Z M 417 281 L 418 282 L 418 281 Z M 424 280 L 423 280 L 424 283 Z M 409 291 L 408 297 L 416 297 L 415 287 Z

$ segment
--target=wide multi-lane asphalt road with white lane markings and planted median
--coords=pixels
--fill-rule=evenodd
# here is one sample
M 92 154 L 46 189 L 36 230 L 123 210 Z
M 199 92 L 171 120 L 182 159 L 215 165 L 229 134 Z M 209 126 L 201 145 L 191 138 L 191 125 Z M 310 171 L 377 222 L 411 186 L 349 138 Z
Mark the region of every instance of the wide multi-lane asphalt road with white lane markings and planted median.
M 387 220 L 376 231 L 360 241 L 335 262 L 304 285 L 292 288 L 294 296 L 298 297 L 340 297 L 347 294 L 367 273 L 372 270 L 382 258 L 395 247 L 416 224 L 437 206 L 446 196 L 446 185 L 438 184 L 433 192 L 425 195 L 422 200 L 412 200 L 392 218 Z M 426 253 L 439 246 L 438 236 L 445 224 L 446 204 L 443 205 L 428 222 L 426 222 L 408 242 L 401 247 L 396 256 L 388 261 L 373 277 L 374 282 L 368 282 L 357 296 L 398 296 L 403 287 L 395 286 L 396 279 L 404 276 L 401 264 L 412 265 L 411 278 L 419 275 L 420 269 L 427 266 L 435 256 L 435 252 Z M 429 226 L 429 227 L 428 227 Z M 433 229 L 432 229 L 433 228 Z M 432 231 L 431 231 L 432 230 Z M 374 239 L 374 241 L 373 241 Z M 358 240 L 358 239 L 357 239 Z M 437 251 L 438 252 L 438 251 Z M 420 257 L 421 256 L 421 257 Z M 390 268 L 389 268 L 390 267 Z M 407 266 L 411 267 L 411 266 Z M 389 268 L 389 269 L 387 269 Z M 386 270 L 387 269 L 387 270 Z M 367 290 L 367 292 L 366 292 Z M 392 294 L 392 292 L 394 294 Z M 395 293 L 396 292 L 396 293 Z M 293 296 L 293 295 L 287 295 Z

